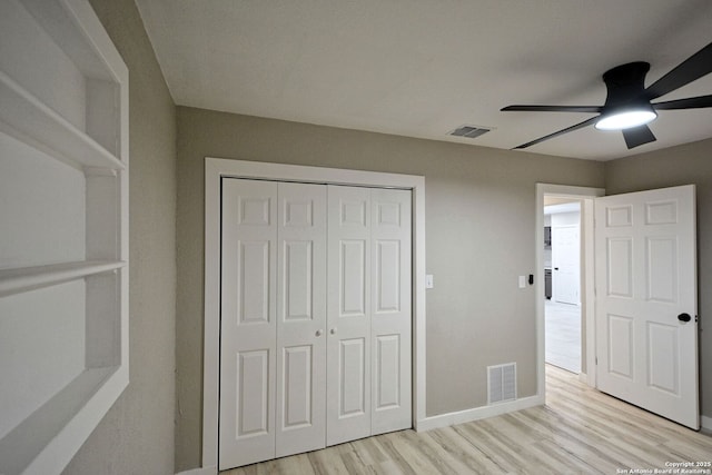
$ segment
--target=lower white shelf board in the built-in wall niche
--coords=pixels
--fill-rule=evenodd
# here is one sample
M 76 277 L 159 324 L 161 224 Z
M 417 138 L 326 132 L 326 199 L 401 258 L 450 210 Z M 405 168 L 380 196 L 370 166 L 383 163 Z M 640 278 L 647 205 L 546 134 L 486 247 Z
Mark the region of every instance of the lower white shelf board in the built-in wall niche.
M 0 270 L 0 297 L 120 269 L 126 263 L 85 260 Z

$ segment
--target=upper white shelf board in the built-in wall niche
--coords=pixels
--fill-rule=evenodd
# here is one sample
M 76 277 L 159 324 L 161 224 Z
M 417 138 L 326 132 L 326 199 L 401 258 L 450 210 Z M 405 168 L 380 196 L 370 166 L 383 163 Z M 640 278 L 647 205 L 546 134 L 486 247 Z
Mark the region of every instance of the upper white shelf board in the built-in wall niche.
M 0 71 L 0 122 L 6 132 L 80 167 L 122 170 L 117 157 Z

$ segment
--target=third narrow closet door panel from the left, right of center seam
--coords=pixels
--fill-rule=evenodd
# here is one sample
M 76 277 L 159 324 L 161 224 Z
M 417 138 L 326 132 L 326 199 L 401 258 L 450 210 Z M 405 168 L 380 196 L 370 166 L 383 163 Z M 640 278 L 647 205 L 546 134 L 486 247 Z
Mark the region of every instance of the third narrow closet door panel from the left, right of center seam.
M 370 435 L 369 196 L 328 187 L 327 445 Z

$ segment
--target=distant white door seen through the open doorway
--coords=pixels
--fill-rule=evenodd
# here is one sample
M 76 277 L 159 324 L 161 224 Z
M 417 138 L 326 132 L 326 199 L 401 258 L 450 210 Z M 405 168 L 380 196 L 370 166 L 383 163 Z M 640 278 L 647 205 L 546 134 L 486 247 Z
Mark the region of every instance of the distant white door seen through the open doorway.
M 581 304 L 580 255 L 578 226 L 552 226 L 552 295 L 555 301 Z

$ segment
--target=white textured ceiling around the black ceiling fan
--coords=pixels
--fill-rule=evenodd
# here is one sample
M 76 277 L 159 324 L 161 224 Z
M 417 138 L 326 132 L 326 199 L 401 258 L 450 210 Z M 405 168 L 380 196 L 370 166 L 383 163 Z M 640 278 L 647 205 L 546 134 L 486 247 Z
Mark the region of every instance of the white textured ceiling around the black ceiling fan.
M 592 115 L 601 75 L 646 85 L 712 41 L 710 0 L 137 0 L 181 106 L 510 149 Z M 661 100 L 712 93 L 712 75 Z M 449 137 L 462 125 L 494 128 Z M 712 137 L 712 109 L 661 111 L 657 141 L 581 129 L 528 151 L 607 160 Z

